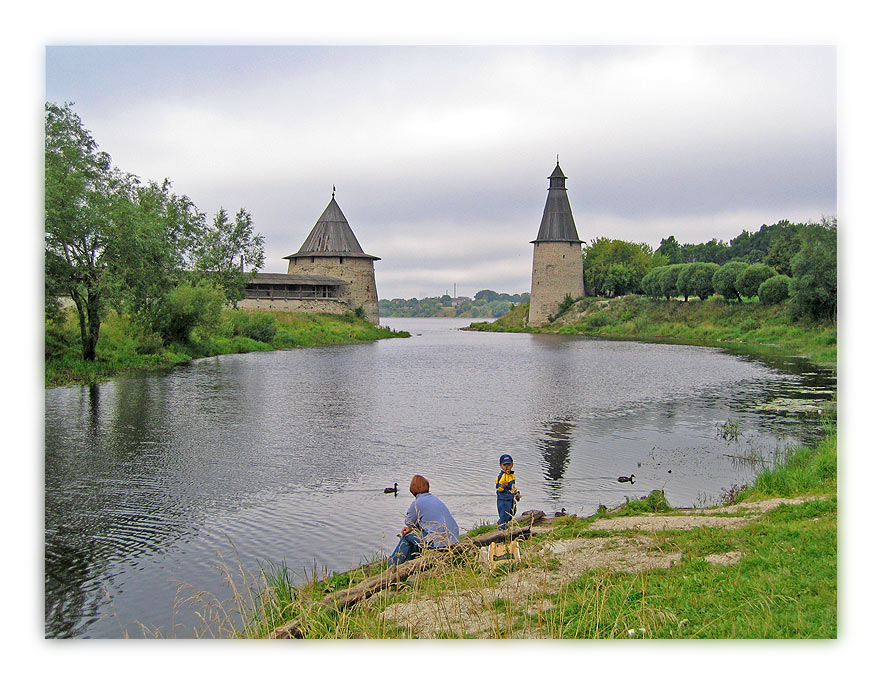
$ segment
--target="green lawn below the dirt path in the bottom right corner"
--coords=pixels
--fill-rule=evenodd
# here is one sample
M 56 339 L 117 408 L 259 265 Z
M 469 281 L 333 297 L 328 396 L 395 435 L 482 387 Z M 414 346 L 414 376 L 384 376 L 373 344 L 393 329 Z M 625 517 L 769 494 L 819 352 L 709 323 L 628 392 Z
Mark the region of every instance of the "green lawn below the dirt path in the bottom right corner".
M 736 530 L 666 533 L 657 542 L 683 554 L 678 564 L 590 571 L 550 612 L 568 638 L 622 638 L 629 629 L 655 638 L 835 638 L 835 540 L 835 499 L 783 506 Z M 705 560 L 724 551 L 744 555 L 730 566 Z

